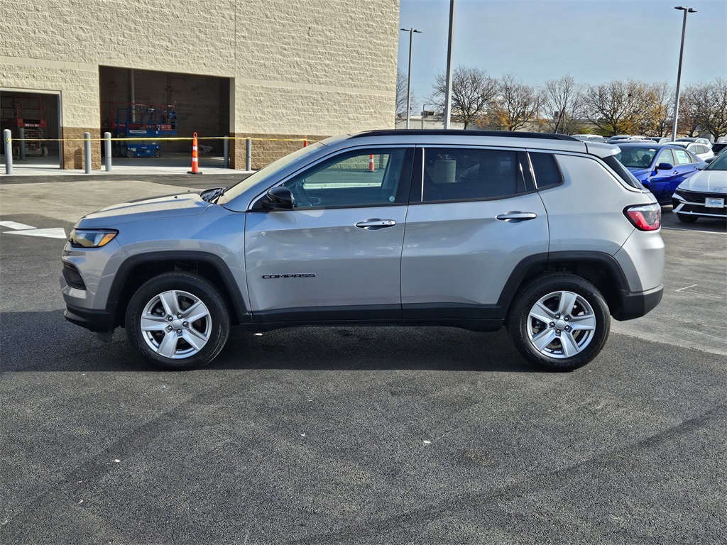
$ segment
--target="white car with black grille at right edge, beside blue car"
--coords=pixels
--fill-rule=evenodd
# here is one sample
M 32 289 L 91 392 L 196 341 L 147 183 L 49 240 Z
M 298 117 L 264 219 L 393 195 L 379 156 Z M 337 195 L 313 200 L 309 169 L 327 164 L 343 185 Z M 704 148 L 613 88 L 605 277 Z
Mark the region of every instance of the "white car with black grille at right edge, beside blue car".
M 727 218 L 727 153 L 694 176 L 680 183 L 672 197 L 672 212 L 679 221 L 696 222 L 700 217 Z

